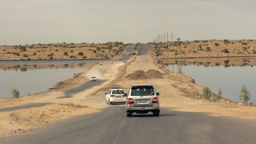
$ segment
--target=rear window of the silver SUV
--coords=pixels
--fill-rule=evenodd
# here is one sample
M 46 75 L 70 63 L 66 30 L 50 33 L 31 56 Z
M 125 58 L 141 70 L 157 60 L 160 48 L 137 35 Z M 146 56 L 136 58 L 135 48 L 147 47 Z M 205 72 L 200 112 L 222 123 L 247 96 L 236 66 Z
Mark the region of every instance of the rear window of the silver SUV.
M 133 87 L 131 89 L 131 96 L 152 96 L 154 95 L 154 89 L 151 86 L 145 87 Z

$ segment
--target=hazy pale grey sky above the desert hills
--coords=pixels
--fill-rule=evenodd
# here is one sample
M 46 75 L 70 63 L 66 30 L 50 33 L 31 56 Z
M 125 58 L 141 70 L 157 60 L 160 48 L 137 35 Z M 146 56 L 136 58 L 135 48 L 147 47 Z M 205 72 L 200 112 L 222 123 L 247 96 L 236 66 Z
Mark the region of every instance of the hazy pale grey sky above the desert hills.
M 256 0 L 0 0 L 0 45 L 256 39 Z

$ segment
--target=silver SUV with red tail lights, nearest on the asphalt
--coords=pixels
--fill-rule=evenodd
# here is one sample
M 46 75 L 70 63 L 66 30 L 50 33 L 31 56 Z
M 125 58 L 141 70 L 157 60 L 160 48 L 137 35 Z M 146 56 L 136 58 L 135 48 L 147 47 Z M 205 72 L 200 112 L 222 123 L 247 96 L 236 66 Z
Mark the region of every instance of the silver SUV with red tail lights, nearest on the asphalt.
M 133 84 L 126 102 L 127 117 L 133 113 L 146 114 L 152 112 L 159 116 L 160 107 L 158 100 L 159 93 L 155 92 L 152 84 Z

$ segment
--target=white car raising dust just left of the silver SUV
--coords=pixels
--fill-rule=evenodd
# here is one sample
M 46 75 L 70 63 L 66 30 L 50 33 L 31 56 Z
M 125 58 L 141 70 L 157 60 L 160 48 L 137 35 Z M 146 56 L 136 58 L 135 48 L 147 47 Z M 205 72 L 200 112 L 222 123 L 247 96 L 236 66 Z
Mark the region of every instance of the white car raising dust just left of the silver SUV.
M 126 104 L 127 94 L 123 89 L 119 87 L 114 87 L 113 89 L 108 90 L 106 95 L 106 103 L 109 105 L 113 103 L 123 103 Z

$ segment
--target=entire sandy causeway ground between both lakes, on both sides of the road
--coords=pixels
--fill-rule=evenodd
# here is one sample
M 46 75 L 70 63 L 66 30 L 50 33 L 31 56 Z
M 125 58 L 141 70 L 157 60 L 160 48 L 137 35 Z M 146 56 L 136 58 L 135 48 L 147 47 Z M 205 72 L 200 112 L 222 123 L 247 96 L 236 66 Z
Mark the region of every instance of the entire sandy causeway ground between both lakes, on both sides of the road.
M 154 46 L 154 45 L 152 45 Z M 151 46 L 151 47 L 152 47 Z M 151 49 L 150 53 L 154 53 Z M 116 71 L 113 71 L 115 69 Z M 136 72 L 136 79 L 129 75 Z M 62 98 L 65 89 L 77 87 L 88 81 L 90 73 L 97 74 L 104 83 L 75 94 L 72 98 Z M 157 75 L 157 77 L 155 77 Z M 75 81 L 75 82 L 74 82 Z M 214 101 L 200 97 L 202 86 L 193 83 L 187 75 L 167 71 L 158 58 L 148 55 L 133 57 L 128 62 L 110 60 L 104 65 L 93 66 L 79 77 L 65 81 L 61 87 L 47 92 L 39 92 L 18 99 L 0 99 L 0 108 L 16 107 L 31 103 L 48 103 L 34 108 L 14 111 L 0 111 L 0 136 L 25 133 L 55 123 L 75 115 L 89 114 L 111 107 L 105 103 L 105 95 L 111 87 L 121 87 L 128 92 L 131 84 L 153 84 L 160 93 L 160 106 L 176 111 L 203 112 L 211 116 L 232 116 L 237 118 L 256 118 L 256 107 L 239 106 L 227 99 Z

